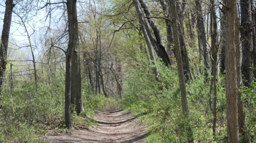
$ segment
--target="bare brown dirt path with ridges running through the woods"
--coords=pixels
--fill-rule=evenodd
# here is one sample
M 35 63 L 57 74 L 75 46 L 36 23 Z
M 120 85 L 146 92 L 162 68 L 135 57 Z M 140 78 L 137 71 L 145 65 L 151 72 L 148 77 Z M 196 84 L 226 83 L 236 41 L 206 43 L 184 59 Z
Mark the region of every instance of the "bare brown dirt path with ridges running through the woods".
M 50 142 L 145 142 L 145 127 L 122 110 L 95 110 L 96 128 L 48 136 Z

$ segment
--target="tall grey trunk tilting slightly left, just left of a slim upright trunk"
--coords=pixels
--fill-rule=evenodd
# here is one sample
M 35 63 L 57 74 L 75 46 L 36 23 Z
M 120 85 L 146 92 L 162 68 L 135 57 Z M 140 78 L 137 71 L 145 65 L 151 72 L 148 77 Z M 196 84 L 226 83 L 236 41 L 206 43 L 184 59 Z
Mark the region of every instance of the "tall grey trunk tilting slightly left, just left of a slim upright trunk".
M 204 26 L 204 18 L 202 14 L 202 5 L 200 0 L 196 0 L 196 7 L 197 7 L 197 26 L 200 34 L 200 38 L 202 40 L 202 46 L 203 46 L 203 57 L 204 57 L 204 75 L 206 79 L 206 83 L 209 82 L 208 80 L 208 73 L 210 69 L 209 64 L 209 54 L 207 51 L 207 39 L 206 39 L 206 33 L 205 33 L 205 26 Z

